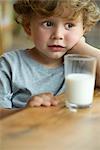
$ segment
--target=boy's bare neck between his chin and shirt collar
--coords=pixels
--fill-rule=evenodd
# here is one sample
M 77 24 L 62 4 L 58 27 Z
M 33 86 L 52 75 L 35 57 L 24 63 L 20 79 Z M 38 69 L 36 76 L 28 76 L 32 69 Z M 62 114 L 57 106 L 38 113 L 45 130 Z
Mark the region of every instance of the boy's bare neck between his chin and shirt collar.
M 63 64 L 62 58 L 52 59 L 52 58 L 46 57 L 44 55 L 41 55 L 37 50 L 35 50 L 35 48 L 29 49 L 28 54 L 31 56 L 31 58 L 47 66 L 48 68 L 59 67 Z

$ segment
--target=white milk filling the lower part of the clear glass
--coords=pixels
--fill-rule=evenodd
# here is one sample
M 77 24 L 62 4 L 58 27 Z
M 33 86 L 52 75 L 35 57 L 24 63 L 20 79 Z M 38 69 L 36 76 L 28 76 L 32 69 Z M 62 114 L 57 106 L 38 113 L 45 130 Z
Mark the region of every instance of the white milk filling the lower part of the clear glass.
M 94 76 L 73 73 L 66 76 L 65 80 L 65 96 L 69 104 L 84 106 L 92 103 L 95 82 Z

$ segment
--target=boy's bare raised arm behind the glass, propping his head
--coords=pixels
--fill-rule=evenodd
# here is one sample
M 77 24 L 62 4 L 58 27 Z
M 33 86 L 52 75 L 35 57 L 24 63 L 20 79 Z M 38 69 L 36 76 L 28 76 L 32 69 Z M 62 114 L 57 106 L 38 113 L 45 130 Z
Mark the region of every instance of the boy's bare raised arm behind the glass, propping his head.
M 100 50 L 80 40 L 69 53 L 91 55 L 97 58 L 96 87 L 100 87 Z

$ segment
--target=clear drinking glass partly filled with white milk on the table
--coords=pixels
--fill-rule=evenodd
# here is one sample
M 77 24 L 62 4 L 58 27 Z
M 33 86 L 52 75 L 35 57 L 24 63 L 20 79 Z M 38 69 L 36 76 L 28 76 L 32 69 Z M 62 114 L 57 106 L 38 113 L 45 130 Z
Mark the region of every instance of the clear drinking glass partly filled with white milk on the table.
M 65 105 L 68 108 L 90 107 L 93 102 L 96 58 L 67 54 L 64 56 Z

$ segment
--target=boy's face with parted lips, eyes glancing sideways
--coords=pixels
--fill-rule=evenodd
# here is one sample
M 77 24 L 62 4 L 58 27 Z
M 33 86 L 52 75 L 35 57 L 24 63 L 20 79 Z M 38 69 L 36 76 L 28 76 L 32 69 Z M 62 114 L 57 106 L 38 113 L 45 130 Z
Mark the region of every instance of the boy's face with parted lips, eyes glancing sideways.
M 30 31 L 38 52 L 46 57 L 58 59 L 83 36 L 82 16 L 74 21 L 55 16 L 36 17 L 30 22 Z

